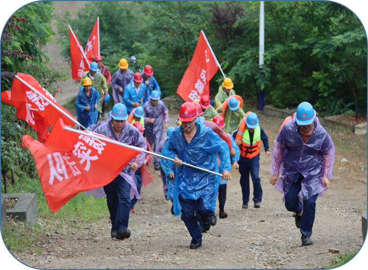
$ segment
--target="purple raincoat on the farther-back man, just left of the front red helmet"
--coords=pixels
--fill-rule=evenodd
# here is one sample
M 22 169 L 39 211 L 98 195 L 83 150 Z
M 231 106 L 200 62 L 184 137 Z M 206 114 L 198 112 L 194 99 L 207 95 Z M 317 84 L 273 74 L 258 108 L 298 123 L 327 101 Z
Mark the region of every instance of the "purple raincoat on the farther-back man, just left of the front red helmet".
M 143 105 L 145 112 L 145 129 L 148 143 L 155 143 L 155 147 L 159 145 L 164 137 L 164 123 L 169 123 L 169 110 L 162 101 L 159 101 L 156 107 L 151 103 L 151 98 Z M 155 122 L 148 123 L 148 120 L 155 118 Z M 152 147 L 153 148 L 153 147 Z

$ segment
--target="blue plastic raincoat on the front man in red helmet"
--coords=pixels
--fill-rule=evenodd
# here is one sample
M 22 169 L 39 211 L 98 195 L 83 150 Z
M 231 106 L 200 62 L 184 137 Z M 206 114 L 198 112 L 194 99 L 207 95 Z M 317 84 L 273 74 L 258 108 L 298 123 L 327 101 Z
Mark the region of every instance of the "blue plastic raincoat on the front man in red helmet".
M 171 158 L 178 157 L 183 162 L 193 164 L 214 172 L 218 172 L 216 155 L 221 162 L 223 170 L 230 170 L 230 154 L 226 143 L 210 128 L 196 122 L 200 128 L 198 136 L 194 137 L 188 145 L 185 144 L 182 126 L 176 128 L 170 136 L 165 155 Z M 165 147 L 166 147 L 165 145 Z M 220 176 L 204 172 L 196 168 L 182 165 L 177 167 L 175 175 L 175 188 L 173 191 L 173 204 L 175 216 L 180 215 L 181 206 L 179 196 L 184 200 L 203 199 L 204 207 L 215 210 Z

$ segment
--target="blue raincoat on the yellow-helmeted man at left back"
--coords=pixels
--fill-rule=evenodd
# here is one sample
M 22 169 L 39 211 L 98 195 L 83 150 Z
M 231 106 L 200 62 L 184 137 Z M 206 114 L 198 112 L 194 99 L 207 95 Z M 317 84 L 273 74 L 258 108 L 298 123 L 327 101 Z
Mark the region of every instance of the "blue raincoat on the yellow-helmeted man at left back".
M 100 94 L 96 91 L 95 88 L 91 87 L 90 97 L 84 93 L 84 85 L 80 86 L 80 90 L 78 92 L 77 97 L 75 98 L 75 110 L 77 112 L 78 122 L 83 127 L 89 127 L 97 122 L 98 112 L 97 109 L 94 109 L 94 105 L 98 105 L 98 99 L 100 98 Z M 90 98 L 90 101 L 88 101 Z M 91 109 L 85 110 L 86 106 L 90 106 Z

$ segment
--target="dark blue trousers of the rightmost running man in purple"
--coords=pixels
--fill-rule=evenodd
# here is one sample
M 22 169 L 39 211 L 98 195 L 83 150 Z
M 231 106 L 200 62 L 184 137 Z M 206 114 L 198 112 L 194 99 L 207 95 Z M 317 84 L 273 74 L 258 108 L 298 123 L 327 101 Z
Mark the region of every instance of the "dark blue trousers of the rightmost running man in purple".
M 299 201 L 298 194 L 302 188 L 303 176 L 299 177 L 297 182 L 293 182 L 289 192 L 285 195 L 285 207 L 290 212 L 300 213 L 303 210 L 300 231 L 305 237 L 311 237 L 314 217 L 316 214 L 316 200 L 318 194 L 313 195 L 308 200 Z

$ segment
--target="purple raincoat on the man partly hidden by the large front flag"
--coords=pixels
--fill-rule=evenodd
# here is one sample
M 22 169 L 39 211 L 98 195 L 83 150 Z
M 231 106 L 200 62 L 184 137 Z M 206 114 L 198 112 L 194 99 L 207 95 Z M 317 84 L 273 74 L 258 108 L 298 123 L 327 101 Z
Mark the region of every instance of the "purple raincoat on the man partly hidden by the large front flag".
M 114 138 L 115 134 L 113 134 L 113 131 L 111 130 L 109 123 L 110 121 L 104 122 L 102 125 L 97 127 L 94 130 L 94 132 L 97 134 L 106 136 L 107 138 L 110 138 L 112 140 L 115 140 Z M 139 132 L 139 130 L 136 127 L 132 126 L 128 122 L 126 122 L 124 128 L 121 130 L 117 141 L 124 143 L 124 144 L 140 147 L 145 150 L 147 149 L 146 140 L 142 136 L 141 132 Z M 131 162 L 136 162 L 138 164 L 138 167 L 141 167 L 143 164 L 143 161 L 145 160 L 145 157 L 146 157 L 146 153 L 140 153 Z M 135 182 L 135 174 L 136 174 L 135 171 L 129 168 L 129 165 L 127 165 L 124 168 L 124 170 L 122 170 L 122 172 L 119 173 L 119 175 L 122 178 L 126 179 L 126 181 L 132 186 L 131 193 L 130 193 L 131 199 L 134 198 L 134 195 L 136 195 L 137 199 L 141 199 L 137 191 L 137 185 Z M 92 190 L 92 191 L 87 191 L 86 196 L 90 196 L 92 193 L 94 193 L 93 198 L 99 198 L 99 197 L 106 196 L 105 192 L 103 191 L 103 187 Z

